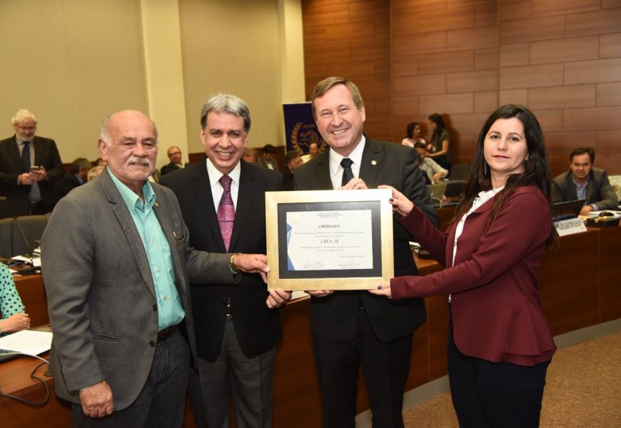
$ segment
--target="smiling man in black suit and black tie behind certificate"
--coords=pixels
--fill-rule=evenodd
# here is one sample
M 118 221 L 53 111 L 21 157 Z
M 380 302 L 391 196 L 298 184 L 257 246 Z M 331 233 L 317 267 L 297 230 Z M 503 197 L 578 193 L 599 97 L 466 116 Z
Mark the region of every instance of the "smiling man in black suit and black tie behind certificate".
M 392 185 L 438 225 L 415 151 L 363 135 L 365 108 L 353 82 L 326 78 L 315 86 L 311 101 L 313 117 L 330 150 L 296 170 L 296 190 Z M 417 275 L 408 243 L 415 237 L 396 221 L 393 227 L 395 276 Z M 309 294 L 323 427 L 354 427 L 360 365 L 373 427 L 403 427 L 403 389 L 410 370 L 413 332 L 425 321 L 423 300 L 394 302 L 366 291 Z

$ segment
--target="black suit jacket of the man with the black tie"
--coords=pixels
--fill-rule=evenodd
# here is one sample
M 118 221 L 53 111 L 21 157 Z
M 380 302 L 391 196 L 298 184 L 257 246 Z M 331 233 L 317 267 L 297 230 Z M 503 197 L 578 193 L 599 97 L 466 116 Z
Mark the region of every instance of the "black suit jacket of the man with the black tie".
M 296 190 L 330 190 L 329 151 L 323 151 L 296 170 Z M 418 154 L 411 148 L 366 137 L 360 177 L 368 188 L 391 185 L 438 225 L 425 178 L 418 168 Z M 408 241 L 416 240 L 398 221 L 393 222 L 395 276 L 418 275 Z M 327 297 L 312 297 L 310 327 L 313 334 L 330 340 L 353 339 L 358 323 L 360 300 L 363 302 L 375 335 L 380 340 L 395 340 L 412 333 L 425 322 L 423 300 L 390 300 L 367 291 L 338 291 Z

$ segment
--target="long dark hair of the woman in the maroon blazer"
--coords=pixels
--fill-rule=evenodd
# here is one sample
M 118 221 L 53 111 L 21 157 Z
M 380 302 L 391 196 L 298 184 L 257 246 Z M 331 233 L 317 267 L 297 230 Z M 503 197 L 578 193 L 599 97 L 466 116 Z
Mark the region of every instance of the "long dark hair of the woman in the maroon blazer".
M 526 137 L 526 145 L 528 148 L 528 160 L 524 163 L 524 171 L 518 174 L 508 175 L 505 181 L 505 188 L 496 195 L 494 205 L 492 207 L 492 214 L 490 215 L 490 222 L 493 222 L 498 215 L 498 211 L 505 203 L 505 200 L 516 188 L 524 185 L 530 185 L 538 188 L 545 195 L 545 198 L 550 202 L 550 187 L 552 183 L 550 166 L 547 163 L 547 154 L 545 152 L 545 144 L 543 138 L 543 132 L 541 126 L 532 114 L 524 106 L 518 106 L 515 104 L 507 104 L 498 108 L 494 113 L 490 115 L 481 132 L 477 141 L 477 149 L 473 159 L 473 164 L 470 167 L 470 175 L 468 177 L 468 183 L 465 187 L 465 197 L 461 201 L 457 209 L 457 215 L 455 219 L 461 218 L 473 205 L 475 198 L 481 191 L 492 190 L 492 180 L 490 177 L 490 171 L 485 172 L 485 156 L 483 152 L 483 145 L 485 143 L 485 136 L 488 135 L 493 123 L 498 119 L 510 119 L 518 118 L 524 126 L 524 135 Z M 552 228 L 552 220 L 550 220 L 550 228 Z M 553 229 L 552 229 L 553 230 Z M 550 242 L 552 240 L 552 231 L 550 233 Z

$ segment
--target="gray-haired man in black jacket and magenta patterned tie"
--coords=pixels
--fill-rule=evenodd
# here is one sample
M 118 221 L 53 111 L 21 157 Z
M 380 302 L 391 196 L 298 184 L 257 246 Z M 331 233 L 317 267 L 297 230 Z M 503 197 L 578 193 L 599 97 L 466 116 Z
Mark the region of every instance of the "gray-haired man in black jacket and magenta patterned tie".
M 191 245 L 265 253 L 265 193 L 283 190 L 283 176 L 241 161 L 248 106 L 237 96 L 213 96 L 203 105 L 201 126 L 206 160 L 162 178 L 179 200 Z M 190 394 L 198 426 L 228 427 L 233 394 L 238 427 L 271 427 L 276 342 L 283 335 L 278 308 L 291 293 L 268 293 L 259 275 L 244 273 L 234 286 L 193 281 L 191 295 L 200 385 L 191 379 Z

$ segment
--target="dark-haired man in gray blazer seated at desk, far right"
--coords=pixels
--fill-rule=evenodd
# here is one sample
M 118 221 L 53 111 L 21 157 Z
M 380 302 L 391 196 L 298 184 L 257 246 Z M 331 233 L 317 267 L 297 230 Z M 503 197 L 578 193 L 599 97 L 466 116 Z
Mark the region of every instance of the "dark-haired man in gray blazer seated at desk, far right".
M 608 174 L 595 168 L 595 151 L 592 148 L 576 148 L 570 154 L 570 170 L 552 181 L 552 202 L 586 199 L 581 215 L 590 211 L 615 210 L 619 205 L 617 194 L 610 185 Z

